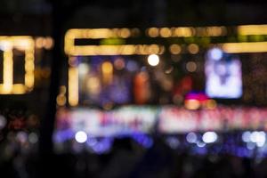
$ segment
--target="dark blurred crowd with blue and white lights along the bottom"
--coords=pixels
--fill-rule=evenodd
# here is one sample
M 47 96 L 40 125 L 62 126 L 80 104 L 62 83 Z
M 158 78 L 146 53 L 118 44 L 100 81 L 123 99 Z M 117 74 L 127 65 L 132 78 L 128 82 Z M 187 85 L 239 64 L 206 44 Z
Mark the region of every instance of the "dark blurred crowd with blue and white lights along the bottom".
M 54 133 L 54 152 L 46 159 L 51 170 L 38 152 L 39 118 L 15 110 L 0 116 L 1 177 L 41 177 L 46 169 L 67 178 L 267 177 L 263 129 L 181 134 L 154 129 L 150 134 L 95 137 L 63 126 Z

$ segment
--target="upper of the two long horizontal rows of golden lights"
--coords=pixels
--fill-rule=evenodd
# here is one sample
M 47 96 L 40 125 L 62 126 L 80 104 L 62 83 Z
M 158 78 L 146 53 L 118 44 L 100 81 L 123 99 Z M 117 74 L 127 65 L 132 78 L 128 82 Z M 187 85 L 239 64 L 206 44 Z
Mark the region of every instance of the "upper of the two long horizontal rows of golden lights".
M 267 25 L 243 25 L 237 27 L 237 33 L 241 36 L 266 35 Z M 139 28 L 84 28 L 69 29 L 66 36 L 69 38 L 127 38 L 140 36 Z M 211 27 L 173 27 L 173 28 L 147 28 L 147 36 L 150 37 L 188 37 L 188 36 L 226 36 L 225 26 Z

